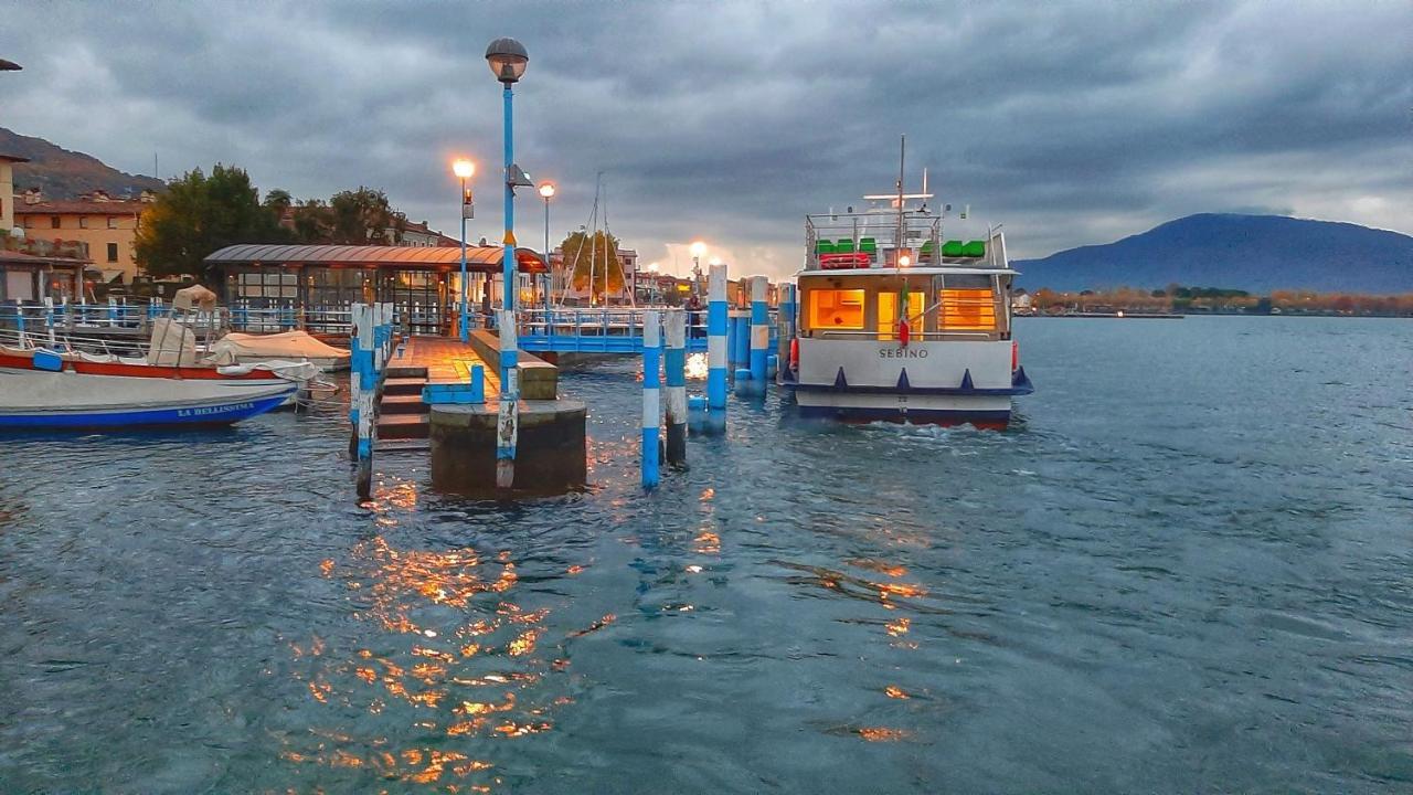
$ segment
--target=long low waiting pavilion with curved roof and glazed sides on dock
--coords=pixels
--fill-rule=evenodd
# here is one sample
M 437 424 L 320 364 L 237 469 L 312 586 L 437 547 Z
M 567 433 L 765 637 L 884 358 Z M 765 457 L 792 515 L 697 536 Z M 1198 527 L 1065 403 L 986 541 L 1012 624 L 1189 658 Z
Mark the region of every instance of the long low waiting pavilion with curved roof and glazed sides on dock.
M 473 317 L 485 318 L 500 300 L 504 249 L 466 246 Z M 355 301 L 389 301 L 413 334 L 455 331 L 461 296 L 461 248 L 407 246 L 226 246 L 205 259 L 211 287 L 229 307 L 292 310 L 311 332 L 336 332 Z M 519 297 L 536 297 L 533 274 L 544 260 L 516 249 Z M 325 328 L 325 325 L 328 328 Z

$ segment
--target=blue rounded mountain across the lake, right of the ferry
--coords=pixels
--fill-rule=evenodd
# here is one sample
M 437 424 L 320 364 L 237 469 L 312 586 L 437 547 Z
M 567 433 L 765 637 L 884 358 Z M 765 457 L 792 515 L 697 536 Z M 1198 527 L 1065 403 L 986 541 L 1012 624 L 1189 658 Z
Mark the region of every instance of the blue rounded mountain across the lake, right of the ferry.
M 1413 293 L 1413 238 L 1283 215 L 1200 214 L 1096 246 L 1013 260 L 1027 290 L 1169 284 L 1269 293 Z

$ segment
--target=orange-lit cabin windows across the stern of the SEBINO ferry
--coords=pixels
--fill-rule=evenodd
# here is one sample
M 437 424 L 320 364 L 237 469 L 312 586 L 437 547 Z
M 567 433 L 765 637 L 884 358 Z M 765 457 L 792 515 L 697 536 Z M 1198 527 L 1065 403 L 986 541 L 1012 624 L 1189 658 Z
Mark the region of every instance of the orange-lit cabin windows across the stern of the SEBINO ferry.
M 804 277 L 801 337 L 896 340 L 906 293 L 913 340 L 1009 340 L 1009 280 L 988 273 Z

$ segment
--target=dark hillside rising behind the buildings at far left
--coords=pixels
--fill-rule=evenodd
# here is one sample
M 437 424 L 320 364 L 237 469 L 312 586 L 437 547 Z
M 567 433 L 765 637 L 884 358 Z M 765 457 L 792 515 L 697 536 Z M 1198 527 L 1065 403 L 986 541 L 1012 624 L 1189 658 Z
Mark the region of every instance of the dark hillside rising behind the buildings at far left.
M 28 163 L 14 166 L 14 190 L 40 188 L 47 199 L 72 199 L 95 188 L 103 188 L 117 198 L 140 194 L 144 188 L 160 191 L 167 187 L 155 177 L 127 174 L 103 164 L 102 160 L 69 151 L 31 136 L 21 136 L 0 127 L 0 154 L 25 157 Z

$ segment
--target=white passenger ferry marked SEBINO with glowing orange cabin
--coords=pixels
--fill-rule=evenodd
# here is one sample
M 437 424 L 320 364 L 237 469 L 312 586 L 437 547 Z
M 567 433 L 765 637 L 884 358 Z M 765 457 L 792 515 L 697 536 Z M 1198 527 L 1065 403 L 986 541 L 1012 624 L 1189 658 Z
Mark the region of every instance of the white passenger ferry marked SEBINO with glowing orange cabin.
M 780 368 L 803 414 L 1005 429 L 1012 398 L 1034 390 L 1012 340 L 1005 235 L 948 221 L 931 198 L 899 190 L 805 216 Z

